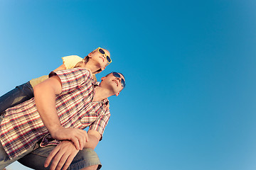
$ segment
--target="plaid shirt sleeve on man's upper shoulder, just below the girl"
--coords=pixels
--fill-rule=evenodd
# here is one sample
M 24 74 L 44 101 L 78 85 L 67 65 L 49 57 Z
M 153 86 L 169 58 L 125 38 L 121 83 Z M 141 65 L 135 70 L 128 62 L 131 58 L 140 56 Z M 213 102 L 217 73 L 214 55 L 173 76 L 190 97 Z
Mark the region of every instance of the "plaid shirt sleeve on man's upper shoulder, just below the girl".
M 75 68 L 64 69 L 56 72 L 50 72 L 49 77 L 57 75 L 62 84 L 62 93 L 66 94 L 73 89 L 77 89 L 82 84 L 89 84 L 92 82 L 92 74 L 87 69 Z

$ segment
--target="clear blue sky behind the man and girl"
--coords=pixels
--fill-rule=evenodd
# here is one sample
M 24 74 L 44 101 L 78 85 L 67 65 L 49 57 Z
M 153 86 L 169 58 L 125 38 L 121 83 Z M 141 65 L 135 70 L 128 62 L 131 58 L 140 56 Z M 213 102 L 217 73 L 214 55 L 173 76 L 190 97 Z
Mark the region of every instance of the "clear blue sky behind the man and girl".
M 110 50 L 103 170 L 256 169 L 256 1 L 0 0 L 0 95 Z M 15 163 L 9 169 L 26 169 Z

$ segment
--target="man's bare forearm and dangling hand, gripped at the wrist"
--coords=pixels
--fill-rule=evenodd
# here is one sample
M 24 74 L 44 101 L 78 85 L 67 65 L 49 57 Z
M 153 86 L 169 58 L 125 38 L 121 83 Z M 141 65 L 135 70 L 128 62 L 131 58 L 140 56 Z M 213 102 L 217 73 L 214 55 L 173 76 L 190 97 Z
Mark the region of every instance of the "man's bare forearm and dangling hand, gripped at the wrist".
M 95 130 L 88 131 L 89 142 L 86 142 L 85 148 L 95 149 L 98 142 L 100 141 L 100 133 Z M 64 140 L 60 142 L 60 144 L 50 152 L 46 162 L 44 164 L 45 167 L 48 167 L 50 162 L 53 160 L 50 169 L 68 169 L 71 162 L 73 161 L 76 154 L 78 154 L 78 149 L 75 149 L 72 142 L 68 140 Z M 63 166 L 64 165 L 64 166 Z

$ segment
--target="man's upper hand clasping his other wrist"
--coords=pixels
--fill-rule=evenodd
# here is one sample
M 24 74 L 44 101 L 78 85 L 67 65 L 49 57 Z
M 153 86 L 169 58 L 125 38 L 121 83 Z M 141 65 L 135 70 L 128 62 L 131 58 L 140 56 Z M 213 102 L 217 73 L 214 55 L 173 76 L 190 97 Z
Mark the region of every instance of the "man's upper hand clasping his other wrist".
M 77 128 L 64 128 L 60 126 L 57 130 L 51 132 L 50 135 L 55 140 L 71 140 L 78 150 L 82 150 L 85 147 L 85 142 L 89 141 L 87 132 Z

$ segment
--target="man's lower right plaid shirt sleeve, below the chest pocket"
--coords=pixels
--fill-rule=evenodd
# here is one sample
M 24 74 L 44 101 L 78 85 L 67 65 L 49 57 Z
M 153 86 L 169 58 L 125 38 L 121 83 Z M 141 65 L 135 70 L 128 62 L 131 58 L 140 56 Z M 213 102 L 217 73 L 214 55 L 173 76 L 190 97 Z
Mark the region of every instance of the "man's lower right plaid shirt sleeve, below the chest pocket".
M 96 130 L 97 132 L 100 133 L 100 135 L 103 135 L 109 120 L 110 120 L 110 109 L 107 108 L 107 111 L 105 111 L 105 113 L 103 113 L 99 118 L 97 118 L 97 120 L 95 120 L 95 122 L 93 122 L 90 125 L 89 130 Z M 100 138 L 100 140 L 102 140 L 102 137 Z

